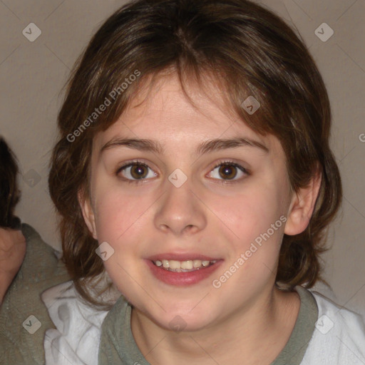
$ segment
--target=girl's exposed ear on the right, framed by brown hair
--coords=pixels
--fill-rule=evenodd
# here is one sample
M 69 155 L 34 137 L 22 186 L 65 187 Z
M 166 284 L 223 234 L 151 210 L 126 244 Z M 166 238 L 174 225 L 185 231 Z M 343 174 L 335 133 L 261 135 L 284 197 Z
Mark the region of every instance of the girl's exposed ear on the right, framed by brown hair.
M 299 235 L 309 225 L 322 181 L 318 166 L 309 185 L 293 193 L 284 229 L 286 235 Z

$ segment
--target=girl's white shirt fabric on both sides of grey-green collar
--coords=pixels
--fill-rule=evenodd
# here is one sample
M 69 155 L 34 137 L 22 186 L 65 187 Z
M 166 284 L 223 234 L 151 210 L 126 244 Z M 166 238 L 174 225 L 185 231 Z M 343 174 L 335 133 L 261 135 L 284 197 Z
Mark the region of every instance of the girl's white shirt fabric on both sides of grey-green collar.
M 365 365 L 364 319 L 312 294 L 318 321 L 301 365 Z M 101 324 L 108 311 L 83 304 L 72 282 L 46 290 L 42 300 L 56 327 L 46 331 L 43 342 L 46 365 L 98 365 Z

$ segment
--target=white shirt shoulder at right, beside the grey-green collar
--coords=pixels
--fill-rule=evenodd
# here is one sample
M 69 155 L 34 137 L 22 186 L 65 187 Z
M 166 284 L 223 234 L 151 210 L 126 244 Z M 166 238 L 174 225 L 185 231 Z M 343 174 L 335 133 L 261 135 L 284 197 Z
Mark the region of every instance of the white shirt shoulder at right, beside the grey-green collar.
M 318 292 L 312 294 L 318 319 L 302 365 L 365 364 L 364 319 Z

